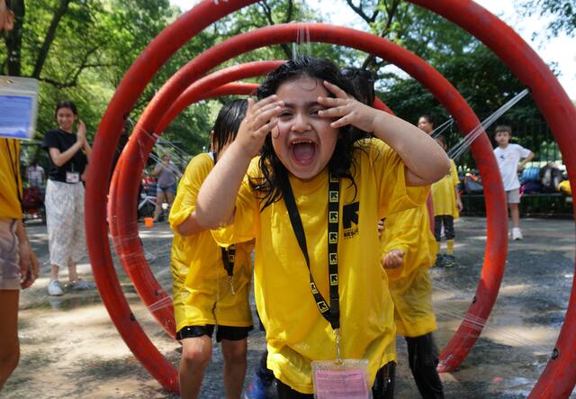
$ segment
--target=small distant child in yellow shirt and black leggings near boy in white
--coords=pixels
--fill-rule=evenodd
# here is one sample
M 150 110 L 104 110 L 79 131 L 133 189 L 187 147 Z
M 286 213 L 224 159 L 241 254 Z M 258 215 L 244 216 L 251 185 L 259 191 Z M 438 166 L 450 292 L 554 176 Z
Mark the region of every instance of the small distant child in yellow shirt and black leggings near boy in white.
M 438 136 L 437 143 L 446 150 L 444 136 Z M 463 205 L 458 193 L 458 171 L 454 160 L 450 159 L 450 171 L 445 177 L 432 185 L 432 200 L 434 202 L 434 237 L 437 240 L 437 259 L 435 266 L 450 268 L 456 265 L 454 257 L 454 221 L 458 219 Z M 446 256 L 440 254 L 441 229 L 444 226 L 446 237 Z

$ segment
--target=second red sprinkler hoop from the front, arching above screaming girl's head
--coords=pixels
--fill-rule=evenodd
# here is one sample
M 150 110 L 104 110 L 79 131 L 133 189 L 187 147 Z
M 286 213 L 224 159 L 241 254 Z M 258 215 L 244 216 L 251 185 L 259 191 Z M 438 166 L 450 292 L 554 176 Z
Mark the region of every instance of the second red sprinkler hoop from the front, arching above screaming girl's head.
M 335 44 L 357 47 L 360 50 L 372 52 L 378 57 L 389 59 L 401 68 L 404 68 L 410 75 L 418 78 L 432 93 L 437 95 L 437 98 L 445 104 L 450 113 L 455 115 L 462 131 L 471 131 L 480 123 L 473 114 L 473 111 L 465 103 L 464 98 L 458 94 L 455 88 L 451 86 L 444 77 L 439 75 L 436 70 L 430 68 L 426 62 L 414 56 L 408 50 L 401 49 L 381 38 L 374 40 L 375 37 L 371 34 L 357 32 L 347 28 L 325 24 L 275 25 L 275 27 L 262 28 L 254 32 L 239 35 L 236 38 L 214 46 L 210 50 L 202 53 L 201 56 L 193 59 L 193 61 L 188 63 L 184 68 L 180 69 L 180 71 L 163 86 L 157 97 L 155 97 L 154 102 L 148 105 L 134 129 L 135 140 L 130 141 L 122 155 L 122 157 L 129 159 L 127 168 L 124 168 L 124 163 L 122 163 L 120 185 L 123 189 L 127 189 L 128 192 L 130 192 L 131 189 L 135 190 L 137 188 L 137 185 L 130 187 L 130 184 L 134 184 L 133 179 L 130 177 L 138 176 L 138 174 L 141 173 L 144 161 L 141 159 L 140 154 L 148 153 L 153 145 L 153 141 L 148 140 L 151 135 L 145 132 L 155 131 L 154 125 L 163 114 L 163 105 L 173 104 L 175 101 L 173 98 L 177 98 L 183 91 L 183 88 L 193 82 L 193 77 L 190 75 L 200 74 L 204 69 L 213 68 L 216 61 L 212 61 L 211 59 L 217 59 L 221 62 L 226 60 L 226 57 L 230 58 L 235 55 L 235 53 L 229 53 L 231 49 L 243 49 L 246 51 L 277 42 L 291 41 L 296 36 L 298 30 L 304 27 L 310 31 L 311 41 L 328 41 Z M 371 43 L 371 41 L 375 41 L 375 43 Z M 362 46 L 356 45 L 358 42 L 363 43 Z M 448 99 L 446 100 L 445 97 Z M 468 315 L 468 319 L 473 320 L 481 318 L 485 320 L 490 313 L 491 305 L 496 298 L 500 286 L 507 243 L 507 240 L 501 240 L 502 237 L 506 238 L 506 225 L 492 222 L 494 220 L 506 220 L 505 213 L 503 212 L 502 206 L 500 206 L 500 204 L 504 204 L 504 193 L 501 187 L 500 175 L 491 175 L 491 170 L 497 170 L 497 168 L 492 156 L 490 141 L 488 141 L 485 136 L 483 140 L 483 142 L 481 139 L 473 145 L 473 154 L 476 159 L 481 159 L 481 161 L 478 161 L 478 164 L 482 172 L 482 179 L 486 186 L 490 187 L 486 195 L 489 213 L 488 223 L 492 235 L 489 236 L 488 240 L 484 269 L 488 269 L 487 275 L 494 278 L 492 278 L 493 284 L 490 286 L 479 286 L 476 293 L 476 300 L 474 301 L 475 306 Z M 136 143 L 138 143 L 138 146 L 135 145 Z M 130 146 L 130 144 L 132 145 Z M 478 151 L 481 151 L 480 155 Z M 500 189 L 500 192 L 498 189 Z M 501 195 L 501 198 L 499 195 Z M 496 201 L 493 201 L 493 198 L 496 198 Z M 137 234 L 137 224 L 133 218 L 133 206 L 135 206 L 135 203 L 128 204 L 122 202 L 117 213 L 119 220 L 124 221 L 121 224 L 126 227 L 125 232 L 128 236 L 136 236 Z M 490 227 L 491 225 L 492 227 Z M 498 229 L 500 229 L 500 234 L 498 234 Z M 122 241 L 125 242 L 125 240 Z M 489 250 L 491 246 L 492 249 Z M 494 250 L 494 248 L 500 250 Z M 127 246 L 126 253 L 133 253 L 134 250 L 139 250 L 139 248 L 130 248 L 130 246 Z M 474 334 L 473 337 L 475 338 L 480 334 L 480 331 L 482 331 L 482 324 L 475 324 L 473 327 L 474 328 L 469 329 L 470 332 L 467 333 Z M 461 339 L 461 337 L 455 338 Z M 468 339 L 468 337 L 465 338 Z M 449 364 L 454 364 L 455 361 L 459 363 L 471 348 L 472 344 L 466 348 L 465 352 L 461 351 L 455 355 L 448 353 L 446 358 L 449 360 Z

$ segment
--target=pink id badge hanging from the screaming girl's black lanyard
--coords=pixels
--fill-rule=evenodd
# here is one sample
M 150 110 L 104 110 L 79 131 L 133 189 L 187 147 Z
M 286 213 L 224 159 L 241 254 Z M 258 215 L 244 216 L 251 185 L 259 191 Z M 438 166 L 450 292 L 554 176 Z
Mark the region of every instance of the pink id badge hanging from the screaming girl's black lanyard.
M 348 358 L 312 361 L 314 395 L 317 399 L 372 399 L 368 384 L 368 360 Z

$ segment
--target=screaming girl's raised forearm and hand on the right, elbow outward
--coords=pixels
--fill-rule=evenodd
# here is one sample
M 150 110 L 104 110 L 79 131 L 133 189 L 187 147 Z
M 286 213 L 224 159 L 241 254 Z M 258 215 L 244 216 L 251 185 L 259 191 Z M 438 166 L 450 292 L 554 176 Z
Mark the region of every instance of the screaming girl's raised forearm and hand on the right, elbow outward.
M 407 186 L 427 186 L 446 176 L 450 168 L 446 152 L 428 134 L 401 118 L 348 97 L 338 86 L 329 82 L 324 82 L 324 85 L 337 98 L 319 97 L 318 102 L 328 107 L 320 111 L 320 116 L 339 117 L 331 124 L 335 128 L 351 124 L 363 131 L 374 132 L 400 155 L 407 168 Z

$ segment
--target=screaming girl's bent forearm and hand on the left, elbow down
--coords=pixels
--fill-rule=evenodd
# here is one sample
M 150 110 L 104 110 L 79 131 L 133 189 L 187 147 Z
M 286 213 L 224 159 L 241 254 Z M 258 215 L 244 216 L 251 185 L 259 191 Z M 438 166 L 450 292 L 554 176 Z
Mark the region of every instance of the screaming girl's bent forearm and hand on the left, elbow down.
M 254 103 L 248 99 L 246 118 L 238 137 L 211 170 L 196 200 L 198 223 L 206 229 L 218 229 L 233 220 L 238 189 L 250 160 L 264 145 L 266 135 L 275 127 L 282 102 L 276 95 Z

